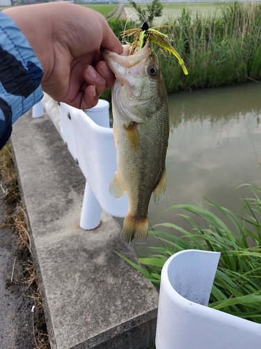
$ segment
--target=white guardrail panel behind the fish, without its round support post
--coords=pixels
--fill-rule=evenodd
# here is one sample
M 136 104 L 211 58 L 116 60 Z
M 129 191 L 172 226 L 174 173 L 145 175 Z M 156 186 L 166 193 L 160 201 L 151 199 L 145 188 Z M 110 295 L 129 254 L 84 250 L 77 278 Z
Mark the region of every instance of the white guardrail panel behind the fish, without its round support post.
M 106 105 L 104 118 L 109 124 L 109 103 L 104 103 Z M 95 109 L 97 110 L 97 107 Z M 109 184 L 117 170 L 112 128 L 97 125 L 85 112 L 65 103 L 61 103 L 59 110 L 63 140 L 75 161 L 77 160 L 95 198 L 102 209 L 111 216 L 126 216 L 127 195 L 118 200 L 109 193 Z

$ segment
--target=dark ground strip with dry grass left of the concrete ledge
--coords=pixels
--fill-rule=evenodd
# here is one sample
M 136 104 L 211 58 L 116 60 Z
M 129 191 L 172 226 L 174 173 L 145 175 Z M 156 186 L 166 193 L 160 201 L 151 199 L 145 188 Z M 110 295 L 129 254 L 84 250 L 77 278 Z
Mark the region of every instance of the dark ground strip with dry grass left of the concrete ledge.
M 49 349 L 34 263 L 14 226 L 19 200 L 6 205 L 6 189 L 0 177 L 0 349 Z

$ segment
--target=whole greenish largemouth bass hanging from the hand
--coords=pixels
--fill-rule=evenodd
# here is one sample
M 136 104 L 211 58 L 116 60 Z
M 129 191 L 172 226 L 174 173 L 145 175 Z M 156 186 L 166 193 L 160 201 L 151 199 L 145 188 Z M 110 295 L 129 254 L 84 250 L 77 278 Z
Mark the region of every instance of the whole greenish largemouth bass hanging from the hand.
M 112 89 L 113 134 L 117 172 L 109 192 L 122 198 L 127 192 L 129 210 L 122 225 L 122 240 L 145 242 L 148 237 L 148 205 L 153 193 L 159 203 L 166 193 L 166 151 L 169 121 L 166 87 L 157 54 L 146 44 L 129 54 L 103 50 L 116 75 Z

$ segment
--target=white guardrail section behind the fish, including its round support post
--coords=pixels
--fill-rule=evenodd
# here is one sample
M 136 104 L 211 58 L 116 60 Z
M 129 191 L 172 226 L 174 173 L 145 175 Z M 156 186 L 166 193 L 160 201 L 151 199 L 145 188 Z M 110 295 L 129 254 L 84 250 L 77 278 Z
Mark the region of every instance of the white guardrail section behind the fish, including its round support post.
M 109 183 L 117 170 L 113 130 L 109 128 L 109 103 L 100 100 L 85 112 L 65 103 L 57 105 L 46 94 L 42 103 L 86 178 L 81 228 L 96 228 L 102 209 L 112 216 L 124 217 L 127 195 L 118 200 L 109 193 Z

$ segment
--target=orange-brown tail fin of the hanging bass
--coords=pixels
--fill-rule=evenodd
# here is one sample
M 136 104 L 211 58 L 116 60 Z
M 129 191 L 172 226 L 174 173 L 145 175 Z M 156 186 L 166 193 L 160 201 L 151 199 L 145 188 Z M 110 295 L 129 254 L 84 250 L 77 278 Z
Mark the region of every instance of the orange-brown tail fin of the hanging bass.
M 144 243 L 148 237 L 149 218 L 136 221 L 132 216 L 126 216 L 122 225 L 120 237 L 124 242 L 138 242 Z

